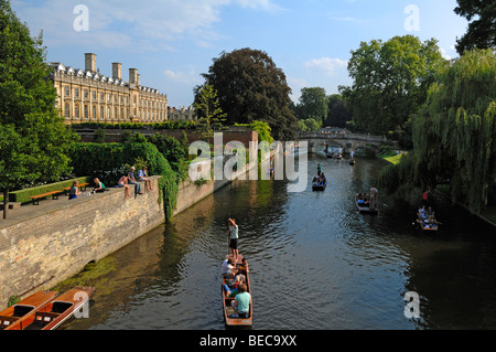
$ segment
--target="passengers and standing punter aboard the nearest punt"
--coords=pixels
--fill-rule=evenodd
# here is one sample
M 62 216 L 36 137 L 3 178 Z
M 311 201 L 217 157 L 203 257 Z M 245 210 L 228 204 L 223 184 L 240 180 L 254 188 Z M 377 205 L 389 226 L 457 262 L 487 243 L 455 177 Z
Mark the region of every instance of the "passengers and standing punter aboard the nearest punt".
M 223 262 L 220 274 L 224 278 L 223 289 L 227 297 L 234 297 L 233 308 L 236 310 L 238 318 L 249 318 L 250 299 L 248 292 L 247 279 L 241 268 L 247 268 L 246 258 L 241 259 L 238 266 L 238 225 L 235 218 L 228 218 L 228 236 L 230 256 Z M 233 317 L 236 318 L 236 317 Z

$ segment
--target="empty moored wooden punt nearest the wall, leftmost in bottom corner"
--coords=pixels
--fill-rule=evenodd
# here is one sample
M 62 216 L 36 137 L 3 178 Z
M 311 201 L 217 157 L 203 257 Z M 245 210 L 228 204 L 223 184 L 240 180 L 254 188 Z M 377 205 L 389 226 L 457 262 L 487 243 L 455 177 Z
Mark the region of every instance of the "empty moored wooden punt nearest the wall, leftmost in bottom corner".
M 41 307 L 57 295 L 56 291 L 41 290 L 0 311 L 0 330 L 13 330 L 15 327 L 23 327 L 26 319 L 33 317 Z

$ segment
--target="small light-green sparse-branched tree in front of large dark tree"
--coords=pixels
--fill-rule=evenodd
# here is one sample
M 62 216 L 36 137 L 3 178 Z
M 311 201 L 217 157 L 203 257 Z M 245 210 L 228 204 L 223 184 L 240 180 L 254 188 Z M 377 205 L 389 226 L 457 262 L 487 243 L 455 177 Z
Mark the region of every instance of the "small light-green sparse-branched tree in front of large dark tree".
M 198 122 L 204 129 L 204 137 L 214 137 L 215 128 L 219 129 L 226 120 L 227 114 L 219 106 L 217 90 L 211 84 L 197 86 L 194 108 L 198 114 Z

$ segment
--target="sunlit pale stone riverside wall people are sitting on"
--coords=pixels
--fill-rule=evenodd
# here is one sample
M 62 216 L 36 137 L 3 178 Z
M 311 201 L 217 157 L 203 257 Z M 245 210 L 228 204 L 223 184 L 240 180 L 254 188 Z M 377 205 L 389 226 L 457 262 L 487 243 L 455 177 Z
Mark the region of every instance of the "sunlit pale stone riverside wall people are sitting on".
M 254 167 L 247 164 L 234 179 Z M 11 296 L 25 297 L 53 287 L 79 273 L 88 263 L 108 256 L 163 224 L 159 178 L 151 178 L 152 192 L 137 198 L 132 188 L 129 199 L 123 198 L 122 189 L 109 189 L 73 201 L 42 201 L 41 204 L 52 204 L 48 209 L 29 204 L 18 215 L 11 211 L 11 218 L 0 222 L 0 310 Z M 226 179 L 197 184 L 183 182 L 173 214 L 230 182 Z

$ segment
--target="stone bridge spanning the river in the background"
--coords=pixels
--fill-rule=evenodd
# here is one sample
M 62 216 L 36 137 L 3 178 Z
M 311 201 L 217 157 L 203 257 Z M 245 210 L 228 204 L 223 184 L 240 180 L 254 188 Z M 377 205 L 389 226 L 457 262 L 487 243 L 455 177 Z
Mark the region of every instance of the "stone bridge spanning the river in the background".
M 325 147 L 343 148 L 344 153 L 356 151 L 359 148 L 373 148 L 378 150 L 381 146 L 395 146 L 397 142 L 381 136 L 355 135 L 355 134 L 301 134 L 300 141 L 309 142 L 309 152 L 324 151 Z

